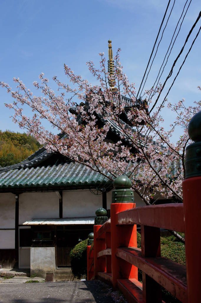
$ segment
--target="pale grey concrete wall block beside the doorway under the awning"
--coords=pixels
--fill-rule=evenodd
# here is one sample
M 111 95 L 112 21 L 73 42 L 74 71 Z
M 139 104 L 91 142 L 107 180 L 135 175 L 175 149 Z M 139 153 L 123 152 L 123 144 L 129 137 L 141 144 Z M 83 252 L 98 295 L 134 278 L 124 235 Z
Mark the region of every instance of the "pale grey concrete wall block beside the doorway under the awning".
M 30 274 L 45 278 L 46 274 L 54 274 L 56 271 L 54 247 L 30 248 Z

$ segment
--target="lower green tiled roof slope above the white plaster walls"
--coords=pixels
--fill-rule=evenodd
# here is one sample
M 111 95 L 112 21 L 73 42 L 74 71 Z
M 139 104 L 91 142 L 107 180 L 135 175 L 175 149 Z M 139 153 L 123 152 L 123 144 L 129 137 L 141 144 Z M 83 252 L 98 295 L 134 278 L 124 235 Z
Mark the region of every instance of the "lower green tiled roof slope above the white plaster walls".
M 107 173 L 107 172 L 106 172 Z M 85 165 L 75 162 L 16 168 L 0 172 L 0 189 L 106 185 L 111 181 Z

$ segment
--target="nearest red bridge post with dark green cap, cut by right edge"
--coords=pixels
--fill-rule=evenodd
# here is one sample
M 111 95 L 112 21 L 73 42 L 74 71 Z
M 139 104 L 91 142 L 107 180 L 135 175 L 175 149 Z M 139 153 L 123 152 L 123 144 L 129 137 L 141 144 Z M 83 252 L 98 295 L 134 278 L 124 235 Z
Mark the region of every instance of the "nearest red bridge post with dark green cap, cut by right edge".
M 190 120 L 190 138 L 186 148 L 183 206 L 185 218 L 185 245 L 188 302 L 201 301 L 201 111 Z

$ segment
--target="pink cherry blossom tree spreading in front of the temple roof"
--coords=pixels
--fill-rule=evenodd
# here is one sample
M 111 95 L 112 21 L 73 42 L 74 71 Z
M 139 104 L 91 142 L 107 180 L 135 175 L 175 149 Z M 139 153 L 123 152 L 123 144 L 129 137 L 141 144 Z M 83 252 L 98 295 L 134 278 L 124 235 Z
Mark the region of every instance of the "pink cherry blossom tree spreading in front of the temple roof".
M 64 65 L 67 83 L 53 77 L 57 93 L 43 73 L 39 75 L 39 82 L 33 82 L 43 94 L 39 96 L 34 96 L 19 78 L 13 79 L 17 84 L 14 91 L 0 82 L 14 99 L 6 106 L 13 110 L 13 121 L 48 151 L 59 152 L 111 181 L 126 174 L 146 205 L 153 204 L 158 193 L 182 202 L 185 148 L 190 143 L 187 125 L 201 109 L 201 101 L 188 107 L 184 99 L 176 104 L 168 103 L 167 99 L 159 102 L 163 89 L 160 83 L 137 99 L 135 85 L 123 73 L 119 54 L 120 49 L 112 60 L 113 73 L 110 69 L 107 72 L 104 53 L 99 54 L 99 68 L 92 61 L 87 62 L 97 85 L 91 85 L 67 65 Z M 31 117 L 24 115 L 26 105 L 33 111 Z M 164 107 L 169 108 L 173 116 L 176 114 L 168 130 L 161 115 Z M 45 128 L 44 120 L 56 128 L 59 135 Z M 111 125 L 118 131 L 116 141 L 108 140 Z M 173 143 L 171 137 L 178 127 L 181 135 Z

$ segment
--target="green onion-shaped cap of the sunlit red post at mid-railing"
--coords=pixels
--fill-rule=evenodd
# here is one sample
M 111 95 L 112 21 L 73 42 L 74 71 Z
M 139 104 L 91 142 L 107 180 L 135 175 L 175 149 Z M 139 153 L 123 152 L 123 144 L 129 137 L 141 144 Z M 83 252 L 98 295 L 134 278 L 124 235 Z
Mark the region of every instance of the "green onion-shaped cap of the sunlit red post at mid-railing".
M 134 202 L 131 180 L 127 176 L 119 176 L 114 182 L 115 189 L 112 191 L 112 203 L 132 203 Z

